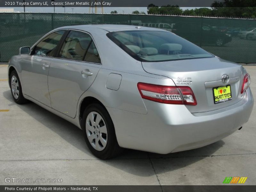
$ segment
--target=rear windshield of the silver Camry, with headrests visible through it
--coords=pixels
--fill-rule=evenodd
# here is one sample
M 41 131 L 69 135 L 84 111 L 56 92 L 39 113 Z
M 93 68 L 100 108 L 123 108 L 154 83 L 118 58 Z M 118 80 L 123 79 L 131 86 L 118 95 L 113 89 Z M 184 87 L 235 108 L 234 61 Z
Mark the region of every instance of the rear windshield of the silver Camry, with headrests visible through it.
M 109 32 L 107 36 L 133 58 L 144 62 L 213 57 L 168 31 L 116 31 Z

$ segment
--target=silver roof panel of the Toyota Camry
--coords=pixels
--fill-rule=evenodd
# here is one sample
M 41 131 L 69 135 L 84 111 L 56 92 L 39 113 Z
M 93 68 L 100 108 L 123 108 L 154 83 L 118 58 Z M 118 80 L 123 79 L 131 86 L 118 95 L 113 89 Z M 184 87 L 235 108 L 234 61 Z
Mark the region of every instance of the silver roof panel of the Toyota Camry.
M 77 30 L 83 30 L 83 31 L 93 31 L 97 29 L 103 29 L 108 32 L 113 32 L 113 31 L 127 31 L 127 30 L 157 30 L 157 31 L 165 31 L 163 29 L 158 29 L 158 28 L 150 28 L 150 27 L 143 27 L 143 26 L 134 26 L 134 25 L 74 25 L 74 26 L 65 26 L 65 27 L 60 27 L 58 29 L 64 29 L 64 28 L 69 28 L 69 29 L 77 29 Z

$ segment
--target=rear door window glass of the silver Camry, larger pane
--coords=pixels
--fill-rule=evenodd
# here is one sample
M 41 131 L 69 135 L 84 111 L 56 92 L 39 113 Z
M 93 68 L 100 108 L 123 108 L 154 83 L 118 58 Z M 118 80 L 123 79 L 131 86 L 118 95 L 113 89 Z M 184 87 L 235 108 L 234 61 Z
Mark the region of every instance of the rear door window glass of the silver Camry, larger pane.
M 90 35 L 83 32 L 70 31 L 62 45 L 59 57 L 82 61 L 91 42 Z

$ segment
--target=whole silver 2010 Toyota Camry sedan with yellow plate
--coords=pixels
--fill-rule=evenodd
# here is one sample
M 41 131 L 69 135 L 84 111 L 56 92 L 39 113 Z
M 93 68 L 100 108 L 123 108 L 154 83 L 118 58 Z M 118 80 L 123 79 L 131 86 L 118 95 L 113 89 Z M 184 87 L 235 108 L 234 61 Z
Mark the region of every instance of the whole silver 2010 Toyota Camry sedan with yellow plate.
M 199 148 L 242 128 L 250 75 L 156 28 L 80 25 L 22 47 L 8 67 L 13 100 L 30 100 L 84 131 L 92 154 Z M 76 139 L 76 138 L 74 138 Z

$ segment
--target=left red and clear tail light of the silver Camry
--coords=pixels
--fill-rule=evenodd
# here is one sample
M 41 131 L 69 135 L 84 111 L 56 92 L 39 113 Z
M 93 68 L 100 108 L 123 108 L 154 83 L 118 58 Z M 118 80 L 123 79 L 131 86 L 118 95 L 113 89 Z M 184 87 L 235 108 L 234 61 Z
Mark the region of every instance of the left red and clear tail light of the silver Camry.
M 137 86 L 143 99 L 166 104 L 197 104 L 193 91 L 187 86 L 164 86 L 147 83 L 138 83 Z

